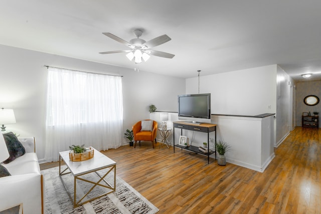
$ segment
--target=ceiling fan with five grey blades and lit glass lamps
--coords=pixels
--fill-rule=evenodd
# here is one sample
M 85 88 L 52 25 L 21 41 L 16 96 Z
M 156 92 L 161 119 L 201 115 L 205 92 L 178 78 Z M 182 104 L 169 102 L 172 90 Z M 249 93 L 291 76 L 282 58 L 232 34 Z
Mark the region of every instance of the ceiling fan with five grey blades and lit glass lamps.
M 150 55 L 157 56 L 157 57 L 164 57 L 164 58 L 170 58 L 172 59 L 175 55 L 174 54 L 169 54 L 165 53 L 162 51 L 155 51 L 151 50 L 150 48 L 153 48 L 158 45 L 162 45 L 166 42 L 169 42 L 172 40 L 169 36 L 166 34 L 156 37 L 152 40 L 149 40 L 146 42 L 143 39 L 140 39 L 139 37 L 142 35 L 141 30 L 134 30 L 133 31 L 134 35 L 137 38 L 134 38 L 130 40 L 129 42 L 126 42 L 125 40 L 111 34 L 111 33 L 102 33 L 103 35 L 116 40 L 117 42 L 120 42 L 121 44 L 124 44 L 125 46 L 128 46 L 131 48 L 131 50 L 122 50 L 122 51 L 107 51 L 107 52 L 100 52 L 99 54 L 115 54 L 115 53 L 127 53 L 126 57 L 132 61 L 134 60 L 135 63 L 141 63 L 142 60 L 145 62 L 149 59 Z

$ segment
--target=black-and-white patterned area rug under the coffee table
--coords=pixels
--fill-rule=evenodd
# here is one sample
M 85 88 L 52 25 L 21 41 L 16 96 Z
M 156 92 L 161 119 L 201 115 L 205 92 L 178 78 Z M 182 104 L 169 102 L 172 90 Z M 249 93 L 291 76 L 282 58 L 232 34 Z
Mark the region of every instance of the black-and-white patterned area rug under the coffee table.
M 108 170 L 108 169 L 104 169 Z M 144 198 L 132 186 L 116 175 L 116 191 L 109 193 L 103 197 L 87 202 L 78 207 L 73 207 L 66 189 L 59 176 L 59 167 L 49 168 L 41 171 L 44 175 L 45 183 L 45 213 L 156 213 L 159 209 L 150 201 Z M 101 170 L 101 174 L 105 171 Z M 106 176 L 106 180 L 113 180 L 114 174 L 110 172 Z M 72 174 L 63 175 L 62 178 L 66 183 L 69 192 L 73 192 L 74 178 Z M 95 173 L 84 175 L 83 178 L 89 180 L 99 179 Z M 112 183 L 112 182 L 111 182 Z M 90 189 L 93 184 L 77 180 L 77 195 L 82 189 Z M 79 187 L 79 188 L 78 188 Z M 106 192 L 106 189 L 97 186 L 88 194 L 88 197 L 98 196 Z M 73 197 L 73 194 L 72 194 Z M 76 197 L 78 199 L 78 196 Z

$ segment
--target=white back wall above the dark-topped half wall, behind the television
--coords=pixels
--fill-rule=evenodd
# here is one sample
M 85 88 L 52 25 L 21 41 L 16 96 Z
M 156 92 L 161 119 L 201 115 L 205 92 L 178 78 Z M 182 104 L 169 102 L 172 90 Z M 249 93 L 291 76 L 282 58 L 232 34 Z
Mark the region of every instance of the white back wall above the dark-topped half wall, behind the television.
M 197 93 L 198 77 L 187 79 L 186 94 Z M 276 65 L 200 76 L 200 93 L 211 93 L 212 114 L 276 113 Z

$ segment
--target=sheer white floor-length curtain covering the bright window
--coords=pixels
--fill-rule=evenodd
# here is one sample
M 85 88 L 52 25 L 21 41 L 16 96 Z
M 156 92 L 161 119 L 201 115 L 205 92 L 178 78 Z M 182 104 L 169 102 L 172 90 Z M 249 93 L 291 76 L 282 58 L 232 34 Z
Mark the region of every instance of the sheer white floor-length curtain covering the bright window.
M 73 144 L 119 147 L 122 120 L 121 77 L 48 67 L 45 160 Z

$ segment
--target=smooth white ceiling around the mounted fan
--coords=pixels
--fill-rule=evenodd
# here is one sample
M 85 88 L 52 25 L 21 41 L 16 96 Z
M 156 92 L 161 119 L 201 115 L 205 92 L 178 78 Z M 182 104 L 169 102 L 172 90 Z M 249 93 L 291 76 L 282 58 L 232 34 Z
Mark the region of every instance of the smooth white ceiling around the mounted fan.
M 2 0 L 0 44 L 182 78 L 278 64 L 293 79 L 321 79 L 321 1 L 305 0 Z M 172 40 L 134 64 L 125 41 Z

